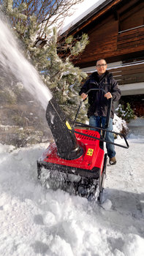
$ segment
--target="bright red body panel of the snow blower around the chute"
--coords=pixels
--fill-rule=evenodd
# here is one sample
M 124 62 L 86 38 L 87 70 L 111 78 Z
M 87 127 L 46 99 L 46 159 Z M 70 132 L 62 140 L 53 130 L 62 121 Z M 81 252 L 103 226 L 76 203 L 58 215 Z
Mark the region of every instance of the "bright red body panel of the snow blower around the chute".
M 83 132 L 86 135 L 91 135 L 96 138 L 100 138 L 99 132 L 87 130 L 87 129 L 75 129 L 77 132 Z M 57 155 L 56 144 L 50 144 L 46 151 L 42 154 L 42 160 L 44 162 L 52 162 L 57 165 L 67 165 L 70 167 L 77 167 L 86 170 L 92 170 L 93 167 L 99 167 L 102 170 L 104 154 L 102 148 L 99 148 L 99 140 L 88 138 L 84 135 L 75 133 L 77 142 L 83 148 L 83 155 L 78 159 L 66 160 L 61 159 Z

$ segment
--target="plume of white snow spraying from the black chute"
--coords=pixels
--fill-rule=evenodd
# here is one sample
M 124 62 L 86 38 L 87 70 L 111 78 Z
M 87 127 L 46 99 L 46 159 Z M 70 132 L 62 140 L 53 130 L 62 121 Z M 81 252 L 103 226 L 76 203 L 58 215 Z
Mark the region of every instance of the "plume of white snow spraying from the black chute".
M 29 93 L 39 100 L 46 109 L 52 95 L 47 86 L 42 83 L 34 67 L 25 59 L 18 49 L 12 32 L 8 26 L 0 20 L 0 65 L 5 72 L 12 72 Z

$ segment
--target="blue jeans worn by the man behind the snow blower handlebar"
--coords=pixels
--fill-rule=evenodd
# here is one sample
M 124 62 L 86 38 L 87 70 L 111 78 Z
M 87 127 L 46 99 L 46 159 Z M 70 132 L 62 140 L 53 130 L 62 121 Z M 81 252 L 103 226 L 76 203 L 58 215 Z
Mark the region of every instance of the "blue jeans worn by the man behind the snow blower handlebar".
M 91 125 L 92 127 L 105 128 L 105 121 L 106 121 L 105 116 L 90 116 L 89 125 Z M 93 128 L 91 128 L 91 129 L 96 130 L 96 129 L 93 129 Z M 112 118 L 110 118 L 110 124 L 109 124 L 109 127 L 107 129 L 109 129 L 110 131 L 113 130 L 113 119 Z M 100 133 L 100 130 L 97 129 L 97 132 Z M 106 132 L 105 140 L 110 141 L 110 142 L 114 142 L 113 133 Z M 115 146 L 113 144 L 106 143 L 106 148 L 107 148 L 108 157 L 110 157 L 110 158 L 115 157 L 115 154 L 116 154 L 115 153 Z

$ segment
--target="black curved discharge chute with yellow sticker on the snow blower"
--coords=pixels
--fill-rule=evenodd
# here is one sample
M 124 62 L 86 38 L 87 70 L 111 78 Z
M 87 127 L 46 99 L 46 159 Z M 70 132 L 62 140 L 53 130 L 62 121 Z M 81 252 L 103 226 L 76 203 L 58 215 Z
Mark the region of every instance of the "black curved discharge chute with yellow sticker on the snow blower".
M 83 149 L 77 143 L 67 116 L 53 98 L 48 102 L 46 119 L 56 142 L 58 156 L 69 160 L 81 157 Z

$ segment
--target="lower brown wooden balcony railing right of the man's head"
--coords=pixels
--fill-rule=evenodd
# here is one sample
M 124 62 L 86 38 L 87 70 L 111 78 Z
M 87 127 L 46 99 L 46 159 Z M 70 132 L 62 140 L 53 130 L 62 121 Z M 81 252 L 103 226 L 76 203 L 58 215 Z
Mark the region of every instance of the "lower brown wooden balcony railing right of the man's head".
M 119 85 L 144 82 L 144 62 L 140 64 L 126 64 L 124 66 L 108 69 Z

